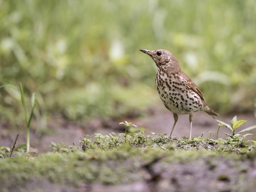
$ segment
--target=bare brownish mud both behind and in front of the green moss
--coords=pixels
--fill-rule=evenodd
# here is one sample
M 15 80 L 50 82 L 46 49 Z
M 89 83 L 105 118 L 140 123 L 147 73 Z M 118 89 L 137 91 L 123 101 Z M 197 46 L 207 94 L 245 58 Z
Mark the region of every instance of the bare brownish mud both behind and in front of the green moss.
M 251 114 L 238 114 L 238 119 L 246 119 L 247 122 L 242 126 L 241 129 L 256 124 L 256 118 Z M 218 119 L 224 122 L 230 122 L 233 115 L 221 116 Z M 112 132 L 121 133 L 124 132 L 124 125 L 119 125 L 119 122 L 127 120 L 134 124 L 144 127 L 146 134 L 151 132 L 158 134 L 169 134 L 170 128 L 173 125 L 173 116 L 171 113 L 165 110 L 157 110 L 154 114 L 140 118 L 126 118 L 126 119 L 115 119 L 115 120 L 103 120 L 93 119 L 90 121 L 67 121 L 60 115 L 55 115 L 54 118 L 48 120 L 47 129 L 41 130 L 38 134 L 35 129 L 31 130 L 31 146 L 32 150 L 36 153 L 48 152 L 49 145 L 51 142 L 60 143 L 63 142 L 66 145 L 79 145 L 80 137 L 84 135 L 92 135 L 94 133 L 109 134 Z M 33 123 L 35 126 L 35 122 Z M 33 128 L 32 127 L 32 128 Z M 217 133 L 218 122 L 216 122 L 211 116 L 203 112 L 198 112 L 194 115 L 193 122 L 193 136 L 209 137 L 207 132 Z M 241 130 L 239 129 L 239 130 Z M 226 133 L 230 134 L 230 130 L 226 127 L 222 127 L 220 130 L 220 137 L 225 138 Z M 254 133 L 254 136 L 246 138 L 246 140 L 256 140 L 256 131 L 253 130 L 250 133 Z M 24 129 L 9 129 L 7 124 L 2 124 L 0 128 L 0 146 L 12 146 L 16 135 L 19 134 L 16 146 L 23 144 L 26 141 L 26 133 Z M 173 136 L 181 138 L 189 135 L 189 122 L 188 115 L 180 115 L 176 129 Z M 216 135 L 211 135 L 212 139 L 216 139 Z M 212 147 L 209 145 L 209 147 Z M 188 151 L 189 153 L 189 151 Z M 193 156 L 193 151 L 191 155 Z M 201 153 L 200 151 L 196 153 Z M 47 178 L 34 178 L 33 180 L 23 181 L 23 185 L 13 185 L 11 188 L 3 184 L 2 189 L 5 191 L 70 191 L 70 192 L 100 192 L 100 191 L 256 191 L 256 159 L 255 155 L 247 158 L 230 158 L 222 155 L 198 155 L 197 158 L 182 158 L 190 155 L 184 152 L 180 153 L 167 153 L 165 158 L 160 161 L 153 162 L 150 166 L 142 166 L 143 163 L 138 161 L 136 158 L 123 158 L 124 162 L 112 160 L 111 158 L 104 162 L 100 167 L 105 167 L 115 172 L 119 172 L 116 167 L 132 166 L 133 164 L 136 169 L 131 169 L 130 172 L 123 173 L 124 178 L 129 178 L 129 181 L 117 185 L 105 185 L 100 182 L 80 182 L 78 186 L 70 186 L 65 181 L 62 183 L 53 183 Z M 182 155 L 183 154 L 183 155 Z M 84 154 L 86 155 L 86 154 Z M 177 156 L 177 161 L 172 159 Z M 66 156 L 68 158 L 68 156 Z M 179 160 L 180 159 L 180 160 Z M 31 161 L 30 161 L 31 162 Z M 87 162 L 81 160 L 72 160 L 74 164 L 74 174 L 76 174 L 77 163 L 81 163 L 80 167 L 87 167 Z M 97 162 L 97 160 L 95 160 Z M 111 163 L 111 162 L 114 162 Z M 33 161 L 32 161 L 33 163 Z M 124 166 L 125 165 L 125 166 Z M 34 165 L 31 165 L 34 166 Z M 46 165 L 47 167 L 47 165 Z M 124 169 L 125 169 L 124 168 Z M 64 170 L 62 170 L 64 169 Z M 120 168 L 121 169 L 121 168 Z M 66 173 L 65 166 L 61 167 L 62 174 Z M 129 170 L 129 169 L 127 169 Z M 44 170 L 41 170 L 45 173 Z M 99 172 L 102 174 L 103 172 Z M 8 178 L 12 178 L 12 174 L 8 173 Z M 120 174 L 120 173 L 119 173 Z M 99 176 L 100 177 L 100 176 Z M 137 178 L 137 179 L 136 179 Z M 81 179 L 81 178 L 80 178 Z M 9 179 L 8 179 L 9 180 Z M 125 180 L 124 180 L 125 181 Z M 7 188 L 5 188 L 7 187 Z M 254 190 L 255 189 L 255 190 Z M 0 189 L 1 190 L 1 189 Z

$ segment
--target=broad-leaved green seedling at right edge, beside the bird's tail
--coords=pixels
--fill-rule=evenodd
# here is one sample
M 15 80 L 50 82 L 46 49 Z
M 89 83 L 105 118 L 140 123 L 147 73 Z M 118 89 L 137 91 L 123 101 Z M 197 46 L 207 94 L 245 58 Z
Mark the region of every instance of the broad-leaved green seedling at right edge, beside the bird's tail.
M 249 127 L 245 128 L 245 129 L 241 130 L 237 134 L 235 134 L 234 131 L 236 131 L 236 129 L 238 129 L 238 127 L 240 127 L 242 124 L 244 124 L 247 120 L 238 120 L 237 116 L 234 116 L 233 119 L 231 120 L 231 124 L 232 125 L 230 125 L 228 123 L 225 123 L 223 121 L 220 121 L 218 119 L 215 119 L 215 120 L 219 122 L 219 129 L 220 129 L 221 126 L 228 127 L 228 129 L 230 129 L 231 132 L 232 132 L 232 136 L 234 136 L 234 135 L 238 135 L 238 136 L 240 135 L 241 136 L 240 133 L 246 132 L 246 131 L 250 131 L 250 130 L 253 130 L 253 129 L 256 128 L 256 125 L 252 125 L 252 126 L 249 126 Z M 218 132 L 217 132 L 217 138 L 218 138 L 219 129 L 218 129 Z M 247 135 L 248 134 L 244 135 L 244 137 L 246 137 Z

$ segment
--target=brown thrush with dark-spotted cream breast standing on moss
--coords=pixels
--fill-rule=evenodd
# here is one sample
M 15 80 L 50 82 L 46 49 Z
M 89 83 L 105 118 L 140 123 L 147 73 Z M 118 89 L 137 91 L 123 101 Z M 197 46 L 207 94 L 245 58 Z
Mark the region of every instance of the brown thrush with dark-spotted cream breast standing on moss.
M 164 49 L 153 51 L 140 49 L 151 56 L 157 66 L 156 87 L 164 106 L 173 113 L 174 124 L 168 138 L 172 137 L 178 121 L 178 114 L 188 114 L 190 122 L 189 139 L 191 139 L 193 113 L 204 111 L 211 116 L 219 116 L 207 105 L 203 93 L 196 84 L 181 70 L 175 56 Z

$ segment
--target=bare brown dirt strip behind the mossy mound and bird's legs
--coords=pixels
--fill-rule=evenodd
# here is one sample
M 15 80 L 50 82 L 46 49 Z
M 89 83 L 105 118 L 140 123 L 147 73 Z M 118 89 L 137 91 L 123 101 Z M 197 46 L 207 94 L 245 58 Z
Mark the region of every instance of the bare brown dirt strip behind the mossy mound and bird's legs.
M 219 120 L 230 123 L 230 120 L 234 115 L 226 115 L 218 117 Z M 256 118 L 253 113 L 237 114 L 238 119 L 247 120 L 241 128 L 255 125 Z M 92 119 L 90 121 L 67 121 L 60 115 L 55 115 L 54 118 L 49 119 L 47 128 L 44 130 L 33 129 L 35 125 L 32 125 L 31 129 L 31 147 L 36 153 L 49 151 L 49 145 L 51 142 L 65 143 L 66 145 L 79 145 L 80 137 L 84 135 L 93 135 L 94 133 L 110 134 L 124 132 L 124 125 L 119 125 L 119 122 L 123 121 L 133 122 L 139 127 L 145 128 L 145 134 L 150 135 L 151 132 L 158 134 L 169 134 L 173 125 L 174 119 L 172 113 L 165 109 L 156 109 L 154 114 L 147 115 L 146 117 L 139 118 L 126 118 L 115 120 L 104 120 L 101 118 Z M 209 137 L 209 133 L 217 133 L 218 122 L 211 116 L 204 112 L 197 112 L 194 114 L 192 136 Z M 219 137 L 225 138 L 225 133 L 231 134 L 227 127 L 221 127 Z M 245 132 L 246 133 L 246 132 Z M 246 140 L 256 140 L 256 130 L 250 131 L 253 136 L 246 137 Z M 16 135 L 19 134 L 16 146 L 26 143 L 25 129 L 9 129 L 6 124 L 0 123 L 0 146 L 13 145 Z M 179 115 L 179 120 L 176 124 L 173 136 L 181 138 L 189 135 L 189 121 L 188 115 Z M 216 134 L 211 135 L 211 139 L 216 139 Z

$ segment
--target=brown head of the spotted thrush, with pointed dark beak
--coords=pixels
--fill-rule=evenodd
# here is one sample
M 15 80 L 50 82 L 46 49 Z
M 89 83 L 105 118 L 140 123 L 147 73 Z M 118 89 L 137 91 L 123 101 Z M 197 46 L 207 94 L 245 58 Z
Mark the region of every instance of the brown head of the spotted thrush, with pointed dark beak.
M 153 51 L 140 49 L 141 52 L 150 55 L 155 61 L 157 67 L 170 73 L 177 73 L 181 71 L 180 66 L 174 55 L 164 49 L 156 49 Z

